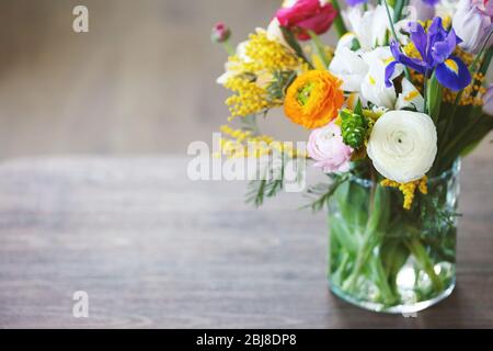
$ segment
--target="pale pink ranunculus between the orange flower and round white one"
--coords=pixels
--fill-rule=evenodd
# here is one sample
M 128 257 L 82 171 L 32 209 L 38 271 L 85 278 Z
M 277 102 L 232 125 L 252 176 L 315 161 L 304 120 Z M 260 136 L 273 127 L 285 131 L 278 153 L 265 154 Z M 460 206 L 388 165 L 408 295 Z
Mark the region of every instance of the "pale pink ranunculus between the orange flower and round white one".
M 325 173 L 349 170 L 353 148 L 344 144 L 341 128 L 334 122 L 311 132 L 307 150 L 308 155 L 317 161 L 313 166 L 323 168 Z

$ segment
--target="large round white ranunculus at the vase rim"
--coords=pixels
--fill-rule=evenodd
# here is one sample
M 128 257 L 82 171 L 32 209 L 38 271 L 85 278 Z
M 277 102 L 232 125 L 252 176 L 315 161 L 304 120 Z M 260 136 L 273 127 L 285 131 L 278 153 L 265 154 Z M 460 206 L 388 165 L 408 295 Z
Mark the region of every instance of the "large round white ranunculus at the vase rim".
M 437 135 L 424 113 L 389 111 L 377 120 L 368 141 L 368 157 L 383 177 L 406 183 L 421 179 L 433 166 Z

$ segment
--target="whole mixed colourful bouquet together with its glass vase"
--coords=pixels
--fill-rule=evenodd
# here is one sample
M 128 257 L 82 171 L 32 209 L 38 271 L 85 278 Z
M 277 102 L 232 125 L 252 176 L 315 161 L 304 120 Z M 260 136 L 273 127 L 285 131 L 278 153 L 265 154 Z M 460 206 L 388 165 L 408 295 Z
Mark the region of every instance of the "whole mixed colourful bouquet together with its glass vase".
M 493 128 L 493 3 L 485 0 L 285 1 L 266 30 L 229 53 L 227 157 L 280 155 L 280 178 L 250 183 L 256 205 L 279 192 L 291 159 L 326 182 L 307 193 L 329 208 L 332 291 L 358 306 L 412 313 L 455 286 L 459 158 Z M 335 47 L 320 35 L 335 27 Z M 306 148 L 263 135 L 283 107 L 310 131 Z M 268 118 L 268 116 L 267 116 Z

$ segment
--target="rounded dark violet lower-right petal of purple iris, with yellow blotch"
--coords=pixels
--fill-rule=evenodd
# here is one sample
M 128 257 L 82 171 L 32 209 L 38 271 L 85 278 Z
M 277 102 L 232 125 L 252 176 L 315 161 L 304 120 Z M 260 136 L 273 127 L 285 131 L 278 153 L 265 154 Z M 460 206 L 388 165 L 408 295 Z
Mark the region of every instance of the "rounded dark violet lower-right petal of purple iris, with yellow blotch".
M 450 56 L 436 67 L 436 79 L 451 91 L 461 90 L 471 83 L 468 67 L 455 56 Z

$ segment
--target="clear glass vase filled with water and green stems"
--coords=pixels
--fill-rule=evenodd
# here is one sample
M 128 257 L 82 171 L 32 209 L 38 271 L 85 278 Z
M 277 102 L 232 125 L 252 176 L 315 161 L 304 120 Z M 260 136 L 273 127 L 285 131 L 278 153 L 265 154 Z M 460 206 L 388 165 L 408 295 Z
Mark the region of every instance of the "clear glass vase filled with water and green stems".
M 352 178 L 329 201 L 329 281 L 332 292 L 359 307 L 409 314 L 444 299 L 456 278 L 460 161 L 416 191 L 402 194 Z

